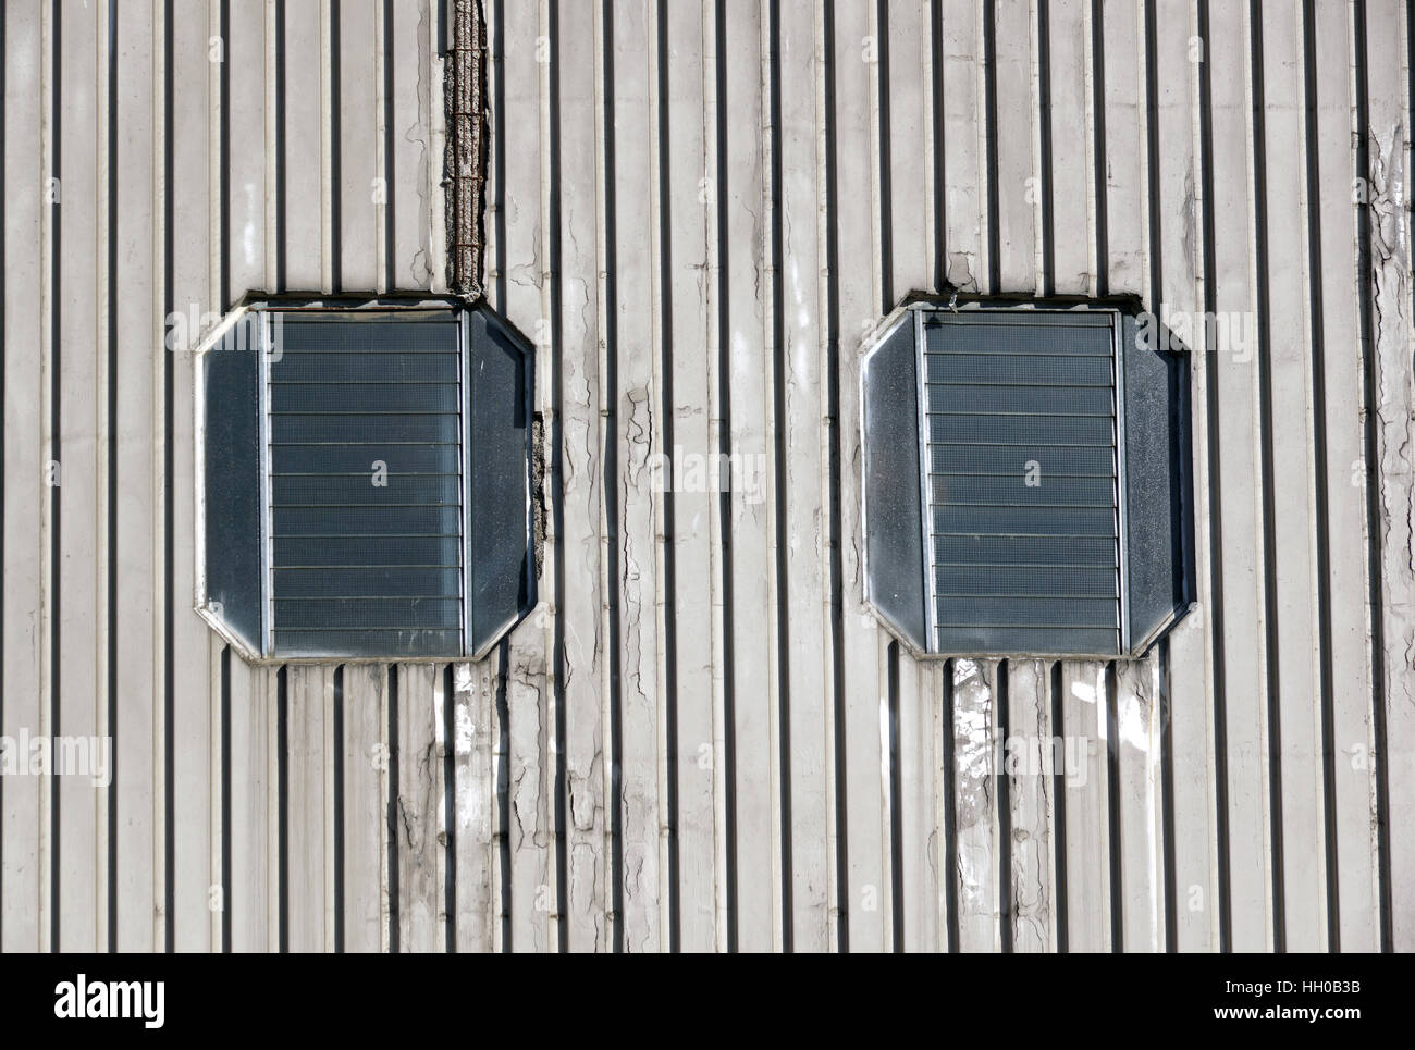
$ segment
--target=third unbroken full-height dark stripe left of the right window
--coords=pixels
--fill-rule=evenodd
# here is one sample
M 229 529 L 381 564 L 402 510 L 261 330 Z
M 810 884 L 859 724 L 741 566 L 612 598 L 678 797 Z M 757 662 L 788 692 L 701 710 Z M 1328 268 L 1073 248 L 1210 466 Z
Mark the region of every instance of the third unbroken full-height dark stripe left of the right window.
M 732 352 L 727 333 L 732 331 L 730 282 L 723 277 L 729 265 L 727 208 L 732 200 L 729 187 L 732 173 L 727 167 L 727 4 L 715 0 L 716 48 L 713 54 L 717 99 L 716 125 L 716 175 L 717 175 L 717 275 L 713 286 L 717 294 L 717 451 L 723 461 L 732 461 Z M 829 10 L 829 8 L 826 8 Z M 829 17 L 829 16 L 828 16 Z M 737 951 L 737 693 L 736 693 L 736 650 L 733 645 L 733 608 L 736 589 L 733 584 L 732 559 L 732 480 L 717 497 L 720 529 L 717 556 L 722 565 L 722 709 L 723 709 L 723 780 L 726 781 L 727 826 L 723 842 L 723 859 L 727 869 L 727 951 Z

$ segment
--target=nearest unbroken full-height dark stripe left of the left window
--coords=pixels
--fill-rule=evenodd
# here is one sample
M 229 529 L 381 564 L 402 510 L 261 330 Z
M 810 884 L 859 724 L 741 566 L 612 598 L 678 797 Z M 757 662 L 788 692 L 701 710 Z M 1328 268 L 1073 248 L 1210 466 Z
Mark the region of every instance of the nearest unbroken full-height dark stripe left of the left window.
M 177 279 L 175 236 L 173 226 L 175 185 L 173 137 L 175 134 L 175 76 L 173 64 L 175 47 L 173 42 L 173 0 L 164 0 L 163 16 L 163 308 L 164 316 L 173 314 L 173 289 Z M 173 449 L 175 444 L 175 385 L 173 381 L 173 354 L 163 352 L 163 791 L 166 794 L 164 843 L 163 843 L 163 930 L 166 951 L 177 948 L 177 787 L 173 783 L 177 770 L 173 725 L 177 712 L 177 661 L 173 655 L 177 634 L 177 569 L 175 569 L 175 490 L 173 474 L 175 467 Z M 283 850 L 282 850 L 283 855 Z M 282 911 L 283 914 L 283 911 Z

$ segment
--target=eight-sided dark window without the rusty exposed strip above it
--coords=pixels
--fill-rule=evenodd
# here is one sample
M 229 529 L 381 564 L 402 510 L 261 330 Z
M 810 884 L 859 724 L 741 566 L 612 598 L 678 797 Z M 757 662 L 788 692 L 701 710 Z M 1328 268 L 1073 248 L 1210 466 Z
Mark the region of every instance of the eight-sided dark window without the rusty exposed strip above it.
M 876 611 L 925 654 L 1143 652 L 1193 594 L 1187 379 L 1126 301 L 901 310 L 863 367 Z

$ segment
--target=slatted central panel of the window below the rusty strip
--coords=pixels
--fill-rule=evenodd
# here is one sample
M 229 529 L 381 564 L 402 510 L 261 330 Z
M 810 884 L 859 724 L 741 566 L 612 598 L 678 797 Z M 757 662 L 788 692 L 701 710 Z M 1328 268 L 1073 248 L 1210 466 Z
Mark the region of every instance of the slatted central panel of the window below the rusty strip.
M 458 655 L 457 321 L 282 317 L 269 355 L 275 655 Z

